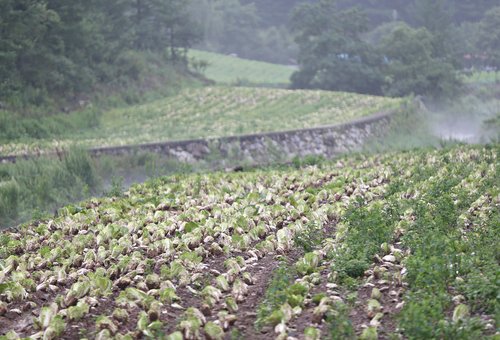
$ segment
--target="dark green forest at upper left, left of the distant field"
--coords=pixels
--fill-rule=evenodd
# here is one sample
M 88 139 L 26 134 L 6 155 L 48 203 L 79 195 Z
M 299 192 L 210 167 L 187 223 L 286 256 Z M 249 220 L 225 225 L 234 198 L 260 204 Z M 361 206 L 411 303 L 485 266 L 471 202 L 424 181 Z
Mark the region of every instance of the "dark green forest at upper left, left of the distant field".
M 97 84 L 138 80 L 136 51 L 169 60 L 198 37 L 180 0 L 0 1 L 0 100 L 82 99 Z

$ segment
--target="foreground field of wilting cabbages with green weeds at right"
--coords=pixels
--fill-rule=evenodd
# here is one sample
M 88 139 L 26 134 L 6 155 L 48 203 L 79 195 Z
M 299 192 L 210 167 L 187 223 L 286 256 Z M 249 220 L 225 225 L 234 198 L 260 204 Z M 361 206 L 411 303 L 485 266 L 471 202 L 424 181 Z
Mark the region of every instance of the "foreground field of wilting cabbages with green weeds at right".
M 499 152 L 176 176 L 64 208 L 0 234 L 0 334 L 494 338 Z

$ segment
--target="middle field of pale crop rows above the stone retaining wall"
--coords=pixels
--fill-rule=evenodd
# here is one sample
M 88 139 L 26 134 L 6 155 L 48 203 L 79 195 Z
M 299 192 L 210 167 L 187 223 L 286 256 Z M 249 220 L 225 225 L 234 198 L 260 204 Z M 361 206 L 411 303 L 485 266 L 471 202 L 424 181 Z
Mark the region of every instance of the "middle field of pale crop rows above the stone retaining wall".
M 118 146 L 233 136 L 345 123 L 399 107 L 401 100 L 352 93 L 243 87 L 186 89 L 152 103 L 105 112 L 101 124 L 58 139 L 0 145 L 0 155 L 78 144 Z

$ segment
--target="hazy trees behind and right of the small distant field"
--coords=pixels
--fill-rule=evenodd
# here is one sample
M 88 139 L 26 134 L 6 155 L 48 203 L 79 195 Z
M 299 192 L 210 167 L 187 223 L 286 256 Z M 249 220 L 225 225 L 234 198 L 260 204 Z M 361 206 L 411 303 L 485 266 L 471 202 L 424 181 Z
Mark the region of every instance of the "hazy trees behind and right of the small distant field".
M 298 64 L 296 88 L 441 96 L 459 87 L 464 68 L 495 67 L 497 4 L 200 0 L 193 13 L 204 32 L 197 47 Z

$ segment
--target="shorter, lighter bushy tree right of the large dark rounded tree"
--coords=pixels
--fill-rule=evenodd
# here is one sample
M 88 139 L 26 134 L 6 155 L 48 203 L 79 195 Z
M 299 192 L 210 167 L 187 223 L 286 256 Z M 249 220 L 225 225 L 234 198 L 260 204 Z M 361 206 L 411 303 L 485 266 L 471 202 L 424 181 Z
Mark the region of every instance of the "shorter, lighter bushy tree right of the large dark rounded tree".
M 439 97 L 451 95 L 459 85 L 453 65 L 433 56 L 434 37 L 426 28 L 401 24 L 382 41 L 387 58 L 384 92 Z

